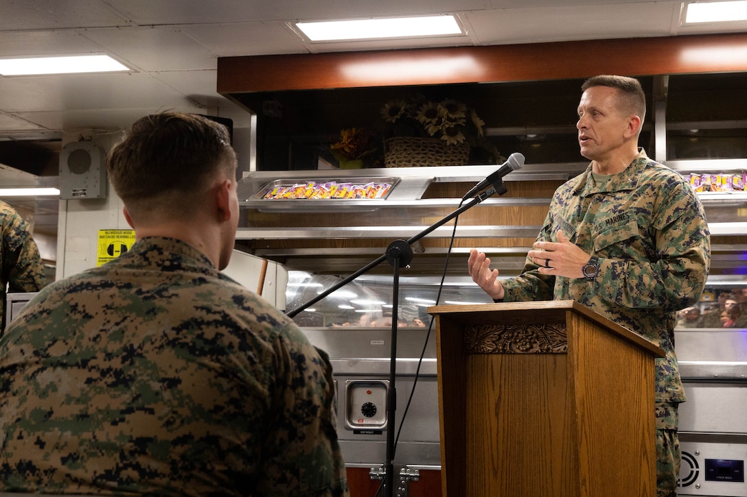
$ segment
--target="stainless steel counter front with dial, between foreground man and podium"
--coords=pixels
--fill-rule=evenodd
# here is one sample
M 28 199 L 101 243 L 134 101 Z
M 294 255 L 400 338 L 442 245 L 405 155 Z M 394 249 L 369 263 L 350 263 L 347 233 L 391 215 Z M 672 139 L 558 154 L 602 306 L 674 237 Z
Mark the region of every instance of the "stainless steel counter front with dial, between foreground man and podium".
M 332 362 L 338 392 L 337 433 L 348 469 L 366 469 L 372 479 L 381 478 L 390 428 L 386 393 L 391 328 L 303 329 Z M 435 330 L 429 336 L 427 328 L 400 328 L 395 387 L 394 430 L 399 434 L 394 456 L 395 495 L 406 497 L 418 475 L 441 468 Z

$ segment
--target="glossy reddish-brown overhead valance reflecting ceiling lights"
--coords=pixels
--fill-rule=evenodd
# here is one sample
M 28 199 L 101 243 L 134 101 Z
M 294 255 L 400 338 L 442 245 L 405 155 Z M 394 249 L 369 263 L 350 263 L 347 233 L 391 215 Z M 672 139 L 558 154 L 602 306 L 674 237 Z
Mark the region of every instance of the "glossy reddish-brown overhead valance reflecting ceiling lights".
M 400 85 L 747 71 L 747 34 L 584 40 L 438 49 L 218 59 L 217 91 L 240 93 Z

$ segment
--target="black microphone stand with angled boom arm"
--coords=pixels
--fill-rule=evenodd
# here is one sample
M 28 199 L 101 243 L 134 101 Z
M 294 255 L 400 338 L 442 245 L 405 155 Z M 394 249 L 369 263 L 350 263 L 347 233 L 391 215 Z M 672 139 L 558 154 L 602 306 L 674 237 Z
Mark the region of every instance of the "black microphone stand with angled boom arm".
M 427 234 L 435 231 L 439 226 L 446 224 L 451 219 L 459 216 L 459 214 L 463 213 L 465 210 L 471 209 L 471 207 L 480 204 L 483 200 L 495 195 L 495 193 L 498 193 L 498 195 L 503 195 L 507 191 L 508 190 L 506 190 L 506 187 L 503 185 L 503 180 L 501 178 L 498 178 L 488 190 L 485 190 L 483 193 L 474 196 L 467 204 L 462 205 L 452 213 L 440 219 L 433 225 L 430 225 L 428 228 L 424 229 L 408 240 L 394 240 L 394 242 L 391 242 L 389 244 L 386 252 L 377 257 L 376 260 L 371 261 L 371 263 L 368 263 L 366 266 L 354 272 L 352 275 L 344 278 L 344 280 L 340 281 L 338 284 L 333 285 L 328 290 L 325 290 L 318 296 L 312 298 L 310 301 L 306 302 L 306 304 L 303 304 L 300 307 L 297 307 L 296 309 L 285 313 L 286 316 L 291 318 L 296 316 L 301 311 L 305 310 L 313 304 L 316 304 L 326 296 L 329 296 L 330 293 L 333 293 L 336 290 L 339 290 L 341 287 L 344 287 L 345 285 L 350 283 L 350 281 L 353 281 L 361 275 L 365 275 L 365 273 L 371 271 L 371 269 L 378 266 L 385 260 L 394 268 L 394 285 L 392 287 L 391 309 L 391 354 L 389 360 L 389 388 L 387 390 L 386 396 L 386 464 L 384 476 L 385 497 L 391 497 L 393 495 L 392 491 L 394 490 L 394 414 L 397 411 L 397 388 L 395 387 L 395 378 L 397 375 L 397 319 L 399 317 L 398 308 L 400 302 L 400 268 L 409 267 L 409 263 L 412 261 L 412 243 L 417 242 Z

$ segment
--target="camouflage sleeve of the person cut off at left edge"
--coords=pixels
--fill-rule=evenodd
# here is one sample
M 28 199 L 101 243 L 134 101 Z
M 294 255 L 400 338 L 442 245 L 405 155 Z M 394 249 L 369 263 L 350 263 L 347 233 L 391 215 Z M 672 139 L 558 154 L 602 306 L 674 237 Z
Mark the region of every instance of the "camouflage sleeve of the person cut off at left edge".
M 38 292 L 45 278 L 39 248 L 17 214 L 3 230 L 3 276 L 10 292 Z

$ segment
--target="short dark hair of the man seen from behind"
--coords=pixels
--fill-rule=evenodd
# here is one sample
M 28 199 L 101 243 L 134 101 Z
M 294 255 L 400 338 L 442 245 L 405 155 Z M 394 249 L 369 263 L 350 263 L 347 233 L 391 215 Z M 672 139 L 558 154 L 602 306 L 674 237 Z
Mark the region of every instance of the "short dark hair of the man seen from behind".
M 107 171 L 126 204 L 208 187 L 221 169 L 235 175 L 228 129 L 203 116 L 155 113 L 132 125 L 109 153 Z

